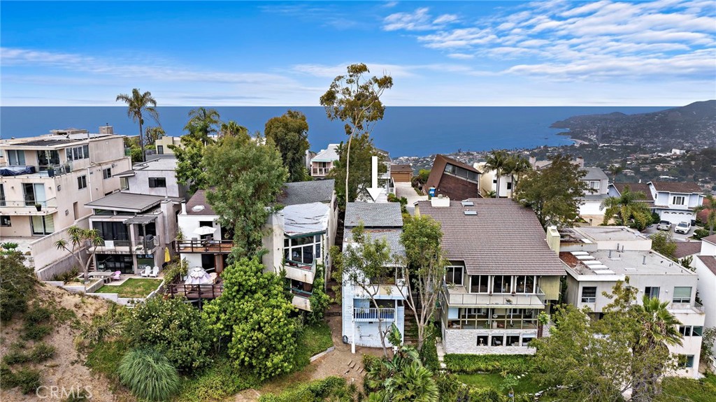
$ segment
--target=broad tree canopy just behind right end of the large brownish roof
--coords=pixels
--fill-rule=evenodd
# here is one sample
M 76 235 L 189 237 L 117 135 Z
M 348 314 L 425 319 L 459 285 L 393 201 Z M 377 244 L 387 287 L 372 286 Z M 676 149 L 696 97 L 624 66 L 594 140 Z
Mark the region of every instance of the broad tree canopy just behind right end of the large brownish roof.
M 551 164 L 531 170 L 521 180 L 514 197 L 531 207 L 543 227 L 569 226 L 579 219 L 579 205 L 589 188 L 582 177 L 586 172 L 572 163 L 571 156 L 550 157 Z

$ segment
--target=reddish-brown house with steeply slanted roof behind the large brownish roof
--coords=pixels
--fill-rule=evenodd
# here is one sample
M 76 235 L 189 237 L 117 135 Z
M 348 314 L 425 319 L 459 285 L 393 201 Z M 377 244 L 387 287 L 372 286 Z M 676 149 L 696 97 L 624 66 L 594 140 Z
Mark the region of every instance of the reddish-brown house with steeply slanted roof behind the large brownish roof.
M 480 195 L 480 172 L 474 167 L 445 155 L 435 155 L 430 176 L 422 188 L 432 197 L 443 195 L 454 200 L 467 200 Z

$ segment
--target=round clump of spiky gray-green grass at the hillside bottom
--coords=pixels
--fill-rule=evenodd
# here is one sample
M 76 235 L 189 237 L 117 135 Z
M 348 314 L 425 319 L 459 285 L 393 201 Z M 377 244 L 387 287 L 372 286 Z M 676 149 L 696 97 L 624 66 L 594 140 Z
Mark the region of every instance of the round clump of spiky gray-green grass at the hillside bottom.
M 117 373 L 137 398 L 165 401 L 179 390 L 177 369 L 158 350 L 130 350 L 120 361 Z

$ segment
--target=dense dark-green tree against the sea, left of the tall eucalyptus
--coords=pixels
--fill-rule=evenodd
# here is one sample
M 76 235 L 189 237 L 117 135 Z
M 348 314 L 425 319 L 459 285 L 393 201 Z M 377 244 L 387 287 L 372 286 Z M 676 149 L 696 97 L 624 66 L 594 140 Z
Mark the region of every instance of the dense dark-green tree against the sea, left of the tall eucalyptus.
M 291 182 L 300 182 L 307 176 L 304 160 L 309 149 L 308 132 L 306 116 L 296 110 L 289 110 L 266 122 L 263 134 L 267 140 L 273 141 L 281 152 L 281 159 L 289 170 Z

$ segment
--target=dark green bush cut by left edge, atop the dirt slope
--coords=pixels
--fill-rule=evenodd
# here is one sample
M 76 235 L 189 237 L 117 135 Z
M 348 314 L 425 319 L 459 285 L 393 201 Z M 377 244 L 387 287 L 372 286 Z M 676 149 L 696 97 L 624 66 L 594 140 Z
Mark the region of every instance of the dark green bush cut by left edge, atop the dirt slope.
M 16 313 L 27 310 L 27 302 L 35 291 L 37 278 L 27 268 L 19 253 L 0 255 L 0 320 L 4 323 Z

